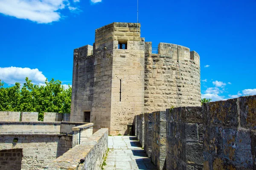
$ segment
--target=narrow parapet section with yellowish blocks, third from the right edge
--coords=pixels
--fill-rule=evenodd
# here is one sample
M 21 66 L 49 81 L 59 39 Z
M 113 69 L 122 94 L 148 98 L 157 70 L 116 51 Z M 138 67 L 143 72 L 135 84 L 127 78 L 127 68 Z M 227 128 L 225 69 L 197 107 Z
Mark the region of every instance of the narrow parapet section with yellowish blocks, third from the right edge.
M 158 170 L 166 168 L 166 111 L 153 112 L 151 159 Z

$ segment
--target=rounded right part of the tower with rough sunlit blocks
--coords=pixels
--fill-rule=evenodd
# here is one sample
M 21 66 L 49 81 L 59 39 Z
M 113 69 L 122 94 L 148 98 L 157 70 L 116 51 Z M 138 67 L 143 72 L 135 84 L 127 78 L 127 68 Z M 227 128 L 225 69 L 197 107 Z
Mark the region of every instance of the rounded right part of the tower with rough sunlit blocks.
M 159 54 L 145 54 L 145 112 L 200 106 L 199 55 L 193 51 L 192 60 L 189 48 L 168 43 L 158 47 Z

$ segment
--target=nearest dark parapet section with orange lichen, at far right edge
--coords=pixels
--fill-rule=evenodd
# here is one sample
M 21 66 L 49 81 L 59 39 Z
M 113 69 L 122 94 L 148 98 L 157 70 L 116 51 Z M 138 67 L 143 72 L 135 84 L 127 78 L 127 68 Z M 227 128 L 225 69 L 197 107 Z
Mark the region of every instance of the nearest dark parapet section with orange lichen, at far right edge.
M 203 105 L 204 169 L 256 169 L 256 96 Z

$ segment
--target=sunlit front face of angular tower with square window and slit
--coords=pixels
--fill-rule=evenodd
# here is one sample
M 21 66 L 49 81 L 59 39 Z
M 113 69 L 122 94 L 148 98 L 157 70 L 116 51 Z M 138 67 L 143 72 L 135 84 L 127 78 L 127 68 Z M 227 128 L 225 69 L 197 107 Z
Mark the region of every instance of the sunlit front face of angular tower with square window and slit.
M 110 134 L 118 135 L 127 134 L 127 125 L 144 112 L 145 42 L 140 38 L 140 24 L 137 33 L 137 23 L 114 23 L 113 34 Z M 118 49 L 118 42 L 127 42 L 127 49 Z

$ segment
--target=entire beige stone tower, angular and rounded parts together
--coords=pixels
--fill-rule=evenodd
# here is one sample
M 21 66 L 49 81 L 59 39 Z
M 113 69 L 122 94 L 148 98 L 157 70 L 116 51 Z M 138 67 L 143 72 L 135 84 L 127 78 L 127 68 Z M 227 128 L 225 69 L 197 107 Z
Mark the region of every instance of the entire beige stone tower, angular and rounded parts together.
M 200 106 L 200 59 L 189 48 L 152 43 L 140 24 L 111 23 L 95 43 L 74 50 L 70 121 L 93 122 L 111 135 L 126 134 L 137 114 Z

